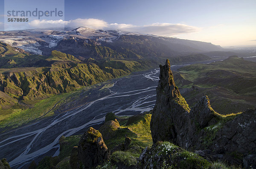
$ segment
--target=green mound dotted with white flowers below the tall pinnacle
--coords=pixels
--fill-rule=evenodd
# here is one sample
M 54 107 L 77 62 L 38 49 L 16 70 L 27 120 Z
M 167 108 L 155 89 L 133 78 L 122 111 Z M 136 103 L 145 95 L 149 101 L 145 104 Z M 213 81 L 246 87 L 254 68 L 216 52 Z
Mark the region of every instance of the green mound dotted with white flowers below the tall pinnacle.
M 138 166 L 149 166 L 161 169 L 228 169 L 225 164 L 219 162 L 209 162 L 196 153 L 188 152 L 173 143 L 158 142 L 147 149 L 144 160 Z

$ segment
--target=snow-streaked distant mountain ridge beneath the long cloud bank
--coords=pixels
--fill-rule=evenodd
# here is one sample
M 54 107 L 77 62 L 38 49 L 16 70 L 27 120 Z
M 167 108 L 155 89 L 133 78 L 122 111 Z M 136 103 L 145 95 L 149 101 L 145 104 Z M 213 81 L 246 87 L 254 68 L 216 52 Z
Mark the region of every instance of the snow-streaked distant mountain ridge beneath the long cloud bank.
M 32 54 L 58 50 L 81 58 L 174 57 L 182 53 L 222 51 L 212 43 L 150 34 L 76 29 L 28 29 L 1 32 L 0 42 Z

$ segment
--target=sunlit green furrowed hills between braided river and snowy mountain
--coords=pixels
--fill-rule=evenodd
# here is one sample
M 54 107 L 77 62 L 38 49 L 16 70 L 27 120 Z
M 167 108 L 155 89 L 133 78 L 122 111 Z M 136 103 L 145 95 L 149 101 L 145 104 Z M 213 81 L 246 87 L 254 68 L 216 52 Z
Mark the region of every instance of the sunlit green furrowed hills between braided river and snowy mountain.
M 172 57 L 172 63 L 208 60 L 204 54 Z M 52 51 L 50 56 L 32 55 L 0 42 L 0 109 L 20 100 L 41 100 L 90 86 L 131 72 L 156 68 L 163 58 L 79 60 Z

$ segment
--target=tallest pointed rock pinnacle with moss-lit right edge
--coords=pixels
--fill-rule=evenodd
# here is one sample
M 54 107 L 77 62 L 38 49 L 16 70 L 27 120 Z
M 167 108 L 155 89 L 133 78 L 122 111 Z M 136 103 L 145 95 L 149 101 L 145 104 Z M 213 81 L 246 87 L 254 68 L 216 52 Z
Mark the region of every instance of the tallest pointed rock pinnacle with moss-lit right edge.
M 189 113 L 186 100 L 175 86 L 170 62 L 166 60 L 160 65 L 160 75 L 157 86 L 157 100 L 153 109 L 150 129 L 153 143 L 157 141 L 177 141 L 177 132 L 183 127 L 183 118 Z

